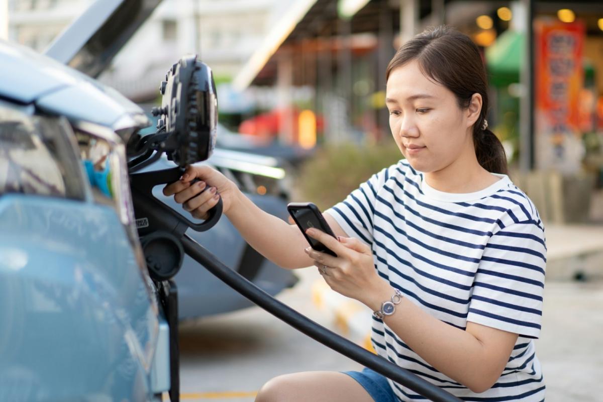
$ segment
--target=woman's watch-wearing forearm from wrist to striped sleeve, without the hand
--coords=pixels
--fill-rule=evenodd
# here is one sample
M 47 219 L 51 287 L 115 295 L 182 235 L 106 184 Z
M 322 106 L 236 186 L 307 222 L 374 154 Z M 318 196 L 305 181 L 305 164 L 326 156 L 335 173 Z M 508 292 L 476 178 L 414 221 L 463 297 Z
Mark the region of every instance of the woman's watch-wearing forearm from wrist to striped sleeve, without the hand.
M 380 310 L 390 300 L 393 287 L 382 280 L 362 301 L 370 309 Z M 517 341 L 517 334 L 467 322 L 466 330 L 452 327 L 435 318 L 406 297 L 384 322 L 415 353 L 441 373 L 469 388 L 484 392 L 500 377 Z

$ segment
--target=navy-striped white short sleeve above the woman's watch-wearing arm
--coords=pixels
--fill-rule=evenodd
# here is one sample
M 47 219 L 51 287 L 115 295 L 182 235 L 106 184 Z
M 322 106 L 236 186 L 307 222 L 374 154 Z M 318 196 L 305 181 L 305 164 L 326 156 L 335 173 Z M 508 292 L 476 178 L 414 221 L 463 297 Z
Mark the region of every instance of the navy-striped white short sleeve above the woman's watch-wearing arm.
M 538 338 L 545 269 L 541 223 L 519 222 L 497 231 L 479 263 L 467 321 Z

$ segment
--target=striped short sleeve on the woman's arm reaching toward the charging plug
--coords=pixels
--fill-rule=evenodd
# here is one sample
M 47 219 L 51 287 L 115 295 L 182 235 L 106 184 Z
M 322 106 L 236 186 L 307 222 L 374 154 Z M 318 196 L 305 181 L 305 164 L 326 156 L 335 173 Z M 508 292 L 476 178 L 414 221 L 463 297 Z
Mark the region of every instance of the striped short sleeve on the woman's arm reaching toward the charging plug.
M 377 192 L 390 177 L 391 169 L 384 168 L 373 174 L 367 181 L 353 190 L 344 201 L 330 207 L 324 213 L 329 214 L 341 226 L 349 237 L 357 237 L 367 244 L 373 245 L 373 216 Z

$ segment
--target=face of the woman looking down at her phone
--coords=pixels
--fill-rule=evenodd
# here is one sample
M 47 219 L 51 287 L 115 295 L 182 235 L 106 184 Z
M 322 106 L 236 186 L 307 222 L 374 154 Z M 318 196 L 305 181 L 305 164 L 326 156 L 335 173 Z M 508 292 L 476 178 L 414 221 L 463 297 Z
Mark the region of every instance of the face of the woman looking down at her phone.
M 385 103 L 394 140 L 414 169 L 441 171 L 473 151 L 470 111 L 459 108 L 449 89 L 425 77 L 416 61 L 390 72 Z

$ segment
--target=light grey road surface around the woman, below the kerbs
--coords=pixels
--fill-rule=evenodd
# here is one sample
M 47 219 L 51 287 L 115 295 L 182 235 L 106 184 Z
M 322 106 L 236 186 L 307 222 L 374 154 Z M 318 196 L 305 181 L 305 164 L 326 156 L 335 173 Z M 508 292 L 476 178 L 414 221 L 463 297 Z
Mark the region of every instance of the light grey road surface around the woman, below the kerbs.
M 314 269 L 280 300 L 310 318 L 337 328 L 331 315 L 311 302 L 320 279 Z M 546 284 L 542 337 L 548 402 L 603 400 L 603 281 Z M 181 331 L 183 400 L 253 401 L 269 378 L 314 369 L 345 370 L 359 365 L 328 350 L 288 325 L 253 307 L 188 322 Z

